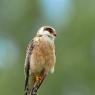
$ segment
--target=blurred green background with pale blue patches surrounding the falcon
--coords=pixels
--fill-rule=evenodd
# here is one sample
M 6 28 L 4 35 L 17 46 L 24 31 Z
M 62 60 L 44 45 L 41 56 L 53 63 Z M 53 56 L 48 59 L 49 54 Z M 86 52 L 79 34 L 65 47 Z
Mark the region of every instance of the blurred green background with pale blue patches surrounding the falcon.
M 39 95 L 95 95 L 95 0 L 0 0 L 0 95 L 24 95 L 26 45 L 56 29 L 55 73 Z

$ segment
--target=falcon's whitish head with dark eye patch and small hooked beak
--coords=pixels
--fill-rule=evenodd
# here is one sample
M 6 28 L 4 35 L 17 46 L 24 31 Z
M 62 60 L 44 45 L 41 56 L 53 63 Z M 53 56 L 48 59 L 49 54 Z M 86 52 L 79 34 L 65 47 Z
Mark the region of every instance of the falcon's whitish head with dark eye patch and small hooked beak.
M 43 26 L 38 30 L 37 35 L 41 35 L 50 39 L 55 39 L 56 32 L 55 29 L 50 26 Z

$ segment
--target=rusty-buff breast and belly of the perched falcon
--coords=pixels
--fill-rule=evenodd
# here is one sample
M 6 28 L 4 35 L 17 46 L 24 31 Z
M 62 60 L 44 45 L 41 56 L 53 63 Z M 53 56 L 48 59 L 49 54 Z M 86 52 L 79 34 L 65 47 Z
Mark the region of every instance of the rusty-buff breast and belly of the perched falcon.
M 37 43 L 30 59 L 31 68 L 38 72 L 43 68 L 48 71 L 55 63 L 54 44 L 43 40 L 39 40 Z

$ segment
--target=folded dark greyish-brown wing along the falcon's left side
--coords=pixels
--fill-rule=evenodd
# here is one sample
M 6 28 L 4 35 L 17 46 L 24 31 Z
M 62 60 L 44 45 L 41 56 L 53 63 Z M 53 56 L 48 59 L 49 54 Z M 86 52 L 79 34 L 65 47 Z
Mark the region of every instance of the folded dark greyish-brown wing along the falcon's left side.
M 30 70 L 30 56 L 32 54 L 34 48 L 34 42 L 33 40 L 29 42 L 26 50 L 26 58 L 25 58 L 25 66 L 24 66 L 24 72 L 25 72 L 25 92 L 27 92 L 28 88 L 28 81 L 29 81 L 29 70 Z M 26 94 L 27 95 L 27 94 Z

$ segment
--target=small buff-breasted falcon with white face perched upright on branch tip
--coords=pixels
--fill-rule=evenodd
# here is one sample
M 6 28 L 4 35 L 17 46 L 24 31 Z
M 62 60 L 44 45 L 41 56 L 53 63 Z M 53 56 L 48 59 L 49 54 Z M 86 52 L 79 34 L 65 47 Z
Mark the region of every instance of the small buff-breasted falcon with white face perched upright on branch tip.
M 41 27 L 28 44 L 25 58 L 25 95 L 36 95 L 48 72 L 54 72 L 56 62 L 55 29 Z

